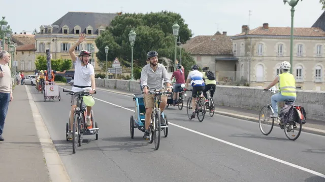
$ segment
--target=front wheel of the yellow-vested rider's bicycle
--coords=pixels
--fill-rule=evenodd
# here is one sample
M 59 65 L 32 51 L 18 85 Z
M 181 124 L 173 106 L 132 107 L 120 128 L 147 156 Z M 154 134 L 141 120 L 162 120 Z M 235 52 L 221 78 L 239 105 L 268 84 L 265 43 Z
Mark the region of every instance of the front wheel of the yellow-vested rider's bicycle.
M 264 106 L 261 111 L 259 112 L 258 116 L 258 125 L 261 132 L 265 135 L 271 133 L 274 125 L 274 118 L 272 121 L 269 121 L 272 111 L 270 109 L 271 106 Z M 263 127 L 265 126 L 265 129 Z

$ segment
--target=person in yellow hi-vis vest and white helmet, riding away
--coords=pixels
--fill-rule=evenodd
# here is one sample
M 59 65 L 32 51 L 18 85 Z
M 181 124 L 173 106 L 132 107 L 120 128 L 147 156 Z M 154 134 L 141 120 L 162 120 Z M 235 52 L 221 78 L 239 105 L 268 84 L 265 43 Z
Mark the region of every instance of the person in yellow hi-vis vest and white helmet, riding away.
M 283 61 L 280 64 L 280 74 L 275 77 L 269 86 L 265 87 L 264 90 L 270 89 L 276 83 L 278 83 L 279 93 L 271 97 L 271 104 L 274 110 L 274 114 L 271 117 L 278 117 L 278 105 L 277 102 L 284 100 L 296 101 L 296 79 L 293 74 L 288 73 L 290 70 L 290 63 Z

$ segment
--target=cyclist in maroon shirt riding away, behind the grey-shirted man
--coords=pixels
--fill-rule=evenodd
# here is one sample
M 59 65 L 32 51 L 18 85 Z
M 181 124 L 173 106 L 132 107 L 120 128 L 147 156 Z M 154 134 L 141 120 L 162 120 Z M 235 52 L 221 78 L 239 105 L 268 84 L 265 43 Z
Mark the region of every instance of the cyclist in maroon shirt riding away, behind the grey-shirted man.
M 180 64 L 176 65 L 176 71 L 174 71 L 171 80 L 173 80 L 173 78 L 176 78 L 176 83 L 173 86 L 174 90 L 174 94 L 173 94 L 173 104 L 176 105 L 177 104 L 177 95 L 179 92 L 181 92 L 181 84 L 185 83 L 185 72 L 184 72 L 184 67 Z

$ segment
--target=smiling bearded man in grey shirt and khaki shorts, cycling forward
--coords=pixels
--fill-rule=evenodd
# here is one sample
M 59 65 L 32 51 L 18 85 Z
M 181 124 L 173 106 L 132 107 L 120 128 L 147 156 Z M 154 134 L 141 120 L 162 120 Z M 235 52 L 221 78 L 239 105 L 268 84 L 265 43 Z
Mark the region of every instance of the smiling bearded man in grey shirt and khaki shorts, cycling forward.
M 159 90 L 160 92 L 164 91 L 163 79 L 167 86 L 167 92 L 172 91 L 171 80 L 168 77 L 167 70 L 163 64 L 158 63 L 158 53 L 155 51 L 150 51 L 147 54 L 147 60 L 150 64 L 147 64 L 143 67 L 141 71 L 141 86 L 144 93 L 144 105 L 146 108 L 145 115 L 145 126 L 146 130 L 144 132 L 143 138 L 149 139 L 149 125 L 151 120 L 151 114 L 154 104 L 154 96 L 149 94 L 149 90 L 153 91 L 154 89 Z M 167 96 L 161 95 L 161 102 L 159 108 L 161 111 L 160 121 L 161 125 L 165 125 L 165 119 L 163 117 L 163 111 L 167 104 Z

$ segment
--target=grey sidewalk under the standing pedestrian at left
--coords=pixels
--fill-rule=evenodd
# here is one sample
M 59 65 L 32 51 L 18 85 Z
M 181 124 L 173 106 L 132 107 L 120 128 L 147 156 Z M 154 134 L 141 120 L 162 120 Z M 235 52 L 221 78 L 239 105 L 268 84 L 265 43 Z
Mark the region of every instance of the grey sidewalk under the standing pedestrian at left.
M 0 142 L 1 181 L 50 181 L 24 85 L 16 85 Z

